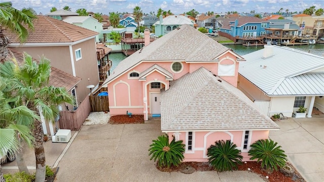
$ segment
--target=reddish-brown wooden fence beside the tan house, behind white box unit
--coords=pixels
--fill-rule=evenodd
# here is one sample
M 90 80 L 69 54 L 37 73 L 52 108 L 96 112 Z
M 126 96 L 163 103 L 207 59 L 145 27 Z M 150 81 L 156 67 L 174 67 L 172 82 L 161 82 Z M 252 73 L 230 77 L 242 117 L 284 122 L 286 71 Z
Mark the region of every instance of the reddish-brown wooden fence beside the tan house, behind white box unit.
M 60 112 L 60 128 L 79 130 L 90 112 L 89 96 L 87 96 L 76 110 Z

